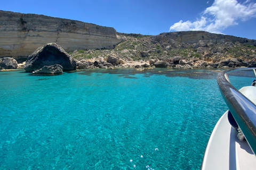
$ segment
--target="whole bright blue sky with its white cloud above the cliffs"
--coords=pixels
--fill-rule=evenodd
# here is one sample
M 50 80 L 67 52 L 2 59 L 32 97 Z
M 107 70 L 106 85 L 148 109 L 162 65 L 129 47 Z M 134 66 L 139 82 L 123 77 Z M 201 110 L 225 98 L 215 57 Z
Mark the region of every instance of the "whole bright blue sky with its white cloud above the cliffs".
M 158 35 L 205 30 L 256 39 L 256 0 L 0 0 L 0 10 L 35 13 Z

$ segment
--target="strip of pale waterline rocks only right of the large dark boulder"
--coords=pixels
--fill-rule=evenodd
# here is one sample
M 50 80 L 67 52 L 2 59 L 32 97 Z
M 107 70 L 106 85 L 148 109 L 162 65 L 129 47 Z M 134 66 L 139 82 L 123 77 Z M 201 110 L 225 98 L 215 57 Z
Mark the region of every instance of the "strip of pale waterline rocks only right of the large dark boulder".
M 169 61 L 126 61 L 119 59 L 120 63 L 108 62 L 108 58 L 91 58 L 83 59 L 79 58 L 76 60 L 77 69 L 113 69 L 115 67 L 124 68 L 146 68 L 146 67 L 177 67 L 183 69 L 202 69 L 202 68 L 245 68 L 245 67 L 256 67 L 256 61 L 247 62 L 239 60 L 237 58 L 227 58 L 226 60 L 220 61 L 218 63 L 212 63 L 207 60 L 199 60 L 198 58 L 182 58 L 181 56 L 175 56 L 169 59 Z M 118 58 L 111 57 L 112 60 L 118 60 Z M 113 59 L 114 58 L 114 59 Z

